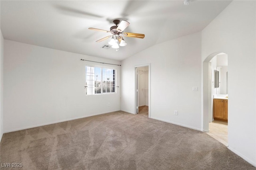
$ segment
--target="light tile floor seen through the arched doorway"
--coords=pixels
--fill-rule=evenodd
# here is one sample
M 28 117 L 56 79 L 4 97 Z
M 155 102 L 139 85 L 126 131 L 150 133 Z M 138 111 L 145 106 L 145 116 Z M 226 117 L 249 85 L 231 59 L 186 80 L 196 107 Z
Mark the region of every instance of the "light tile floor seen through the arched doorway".
M 209 132 L 206 133 L 225 146 L 228 145 L 228 122 L 214 120 L 209 123 Z

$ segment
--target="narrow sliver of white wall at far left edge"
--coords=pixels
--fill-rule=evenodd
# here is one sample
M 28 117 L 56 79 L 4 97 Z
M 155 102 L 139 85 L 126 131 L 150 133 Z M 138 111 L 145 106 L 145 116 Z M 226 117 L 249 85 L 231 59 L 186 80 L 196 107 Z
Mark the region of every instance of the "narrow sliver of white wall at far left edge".
M 4 37 L 0 30 L 0 141 L 4 133 Z

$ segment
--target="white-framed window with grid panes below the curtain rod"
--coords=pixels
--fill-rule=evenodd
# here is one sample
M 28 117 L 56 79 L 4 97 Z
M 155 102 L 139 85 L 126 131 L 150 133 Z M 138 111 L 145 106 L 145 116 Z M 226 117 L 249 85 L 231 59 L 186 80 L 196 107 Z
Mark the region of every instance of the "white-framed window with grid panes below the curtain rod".
M 86 66 L 86 95 L 116 92 L 116 70 Z

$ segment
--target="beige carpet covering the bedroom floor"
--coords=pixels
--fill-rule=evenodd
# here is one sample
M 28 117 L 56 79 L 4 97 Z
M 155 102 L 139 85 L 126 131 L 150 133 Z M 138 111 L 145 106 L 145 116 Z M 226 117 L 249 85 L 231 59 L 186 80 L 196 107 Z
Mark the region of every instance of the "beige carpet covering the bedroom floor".
M 206 133 L 122 111 L 5 133 L 24 170 L 256 170 Z

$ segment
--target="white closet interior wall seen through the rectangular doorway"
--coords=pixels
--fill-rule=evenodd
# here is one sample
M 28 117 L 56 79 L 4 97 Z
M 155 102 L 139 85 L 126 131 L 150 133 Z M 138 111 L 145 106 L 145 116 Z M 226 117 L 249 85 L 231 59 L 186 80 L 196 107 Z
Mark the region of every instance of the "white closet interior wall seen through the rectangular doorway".
M 138 67 L 139 106 L 148 106 L 148 66 Z

